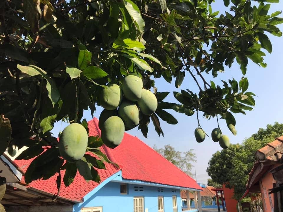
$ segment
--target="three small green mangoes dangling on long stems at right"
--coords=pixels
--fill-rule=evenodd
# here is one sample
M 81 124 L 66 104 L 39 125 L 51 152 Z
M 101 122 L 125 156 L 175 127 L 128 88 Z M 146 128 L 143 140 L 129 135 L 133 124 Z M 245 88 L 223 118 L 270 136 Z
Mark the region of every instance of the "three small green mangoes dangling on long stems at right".
M 227 149 L 230 146 L 230 141 L 227 135 L 222 135 L 219 128 L 214 128 L 211 132 L 211 138 L 214 142 L 219 141 L 219 145 L 223 149 Z M 201 143 L 205 140 L 205 132 L 202 128 L 198 127 L 195 129 L 195 139 L 198 143 Z

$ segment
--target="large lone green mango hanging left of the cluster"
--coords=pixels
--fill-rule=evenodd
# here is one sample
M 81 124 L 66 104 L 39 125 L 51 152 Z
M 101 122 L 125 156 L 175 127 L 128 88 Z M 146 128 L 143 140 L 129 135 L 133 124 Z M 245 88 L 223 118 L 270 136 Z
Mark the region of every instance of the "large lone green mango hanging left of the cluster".
M 88 146 L 88 133 L 83 125 L 70 124 L 62 131 L 59 139 L 59 152 L 69 162 L 80 160 Z

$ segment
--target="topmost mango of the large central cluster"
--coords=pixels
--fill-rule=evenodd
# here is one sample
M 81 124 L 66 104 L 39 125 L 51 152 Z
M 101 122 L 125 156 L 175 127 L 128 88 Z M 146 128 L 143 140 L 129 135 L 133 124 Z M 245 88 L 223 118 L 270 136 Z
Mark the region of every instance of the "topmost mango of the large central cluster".
M 142 87 L 141 78 L 134 73 L 126 75 L 122 83 L 124 96 L 132 102 L 136 102 L 141 98 Z

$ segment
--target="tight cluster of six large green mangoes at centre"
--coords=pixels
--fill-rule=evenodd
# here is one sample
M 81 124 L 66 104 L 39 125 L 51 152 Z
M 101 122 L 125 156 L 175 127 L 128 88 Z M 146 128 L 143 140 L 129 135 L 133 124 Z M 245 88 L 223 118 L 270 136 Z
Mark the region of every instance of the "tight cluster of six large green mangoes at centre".
M 121 143 L 125 130 L 139 125 L 139 111 L 151 115 L 157 109 L 155 95 L 143 89 L 142 79 L 133 73 L 126 75 L 121 87 L 108 84 L 100 94 L 99 103 L 104 110 L 98 127 L 103 143 L 109 148 Z

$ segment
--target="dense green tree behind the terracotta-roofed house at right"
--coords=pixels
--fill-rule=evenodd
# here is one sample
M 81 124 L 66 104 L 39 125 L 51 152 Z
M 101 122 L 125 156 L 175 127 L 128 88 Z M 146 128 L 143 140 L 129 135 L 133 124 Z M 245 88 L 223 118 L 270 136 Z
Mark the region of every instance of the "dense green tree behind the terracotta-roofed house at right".
M 226 150 L 217 151 L 208 163 L 206 170 L 208 175 L 216 183 L 226 184 L 229 188 L 233 187 L 234 197 L 239 199 L 246 191 L 248 174 L 256 162 L 254 156 L 256 150 L 263 148 L 276 137 L 282 136 L 282 127 L 283 124 L 275 122 L 274 125 L 267 125 L 266 129 L 260 128 L 241 145 L 231 145 Z

